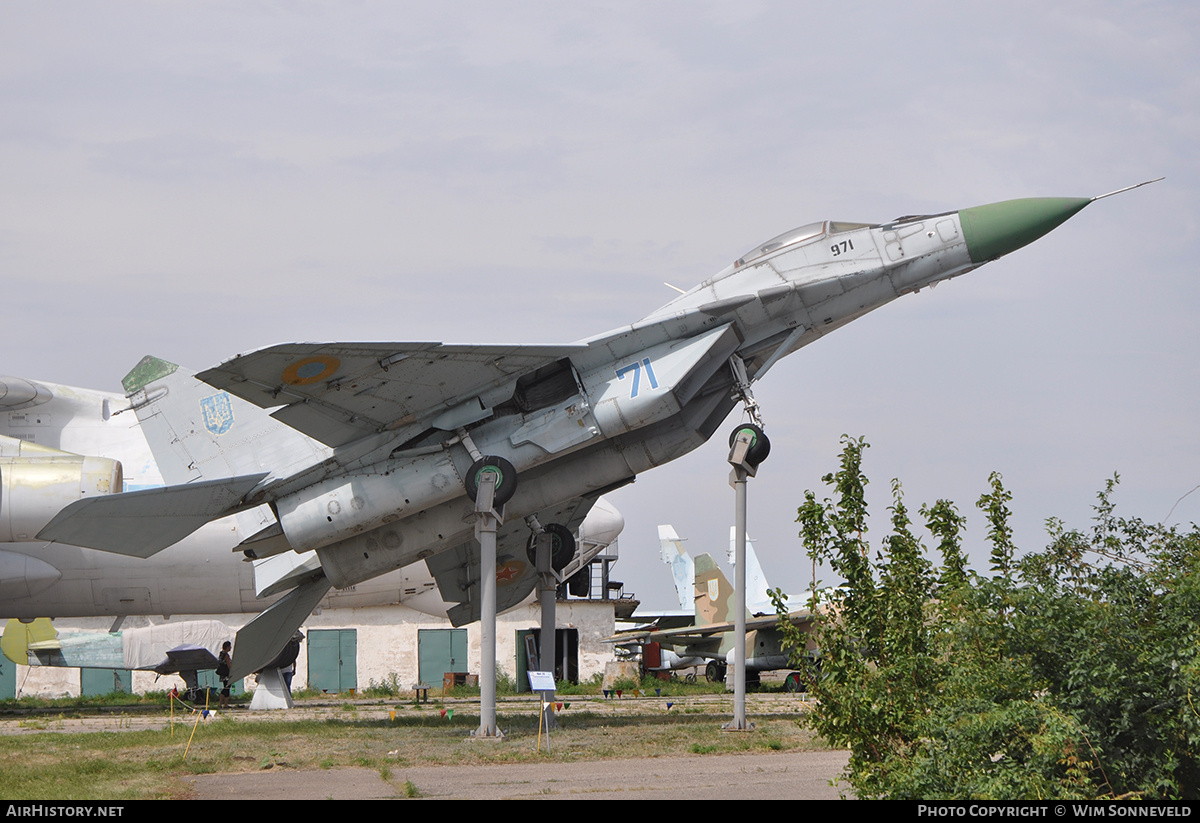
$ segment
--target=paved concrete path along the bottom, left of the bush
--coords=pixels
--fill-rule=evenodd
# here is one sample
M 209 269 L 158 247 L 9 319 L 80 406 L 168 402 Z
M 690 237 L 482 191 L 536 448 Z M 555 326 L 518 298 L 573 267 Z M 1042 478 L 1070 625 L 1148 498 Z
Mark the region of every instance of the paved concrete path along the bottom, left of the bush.
M 202 800 L 367 800 L 419 797 L 462 800 L 829 800 L 844 751 L 650 757 L 584 763 L 253 771 L 188 779 Z

